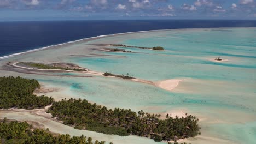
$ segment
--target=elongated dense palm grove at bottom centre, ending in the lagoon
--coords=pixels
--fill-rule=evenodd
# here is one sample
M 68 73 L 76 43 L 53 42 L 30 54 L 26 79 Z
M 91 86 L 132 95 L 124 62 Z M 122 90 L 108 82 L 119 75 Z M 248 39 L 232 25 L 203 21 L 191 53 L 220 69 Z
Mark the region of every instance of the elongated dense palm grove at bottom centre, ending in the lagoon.
M 130 109 L 108 110 L 105 106 L 91 104 L 81 99 L 71 98 L 54 102 L 48 113 L 63 121 L 63 124 L 80 129 L 120 136 L 133 134 L 150 137 L 155 141 L 178 140 L 200 133 L 197 124 L 199 119 L 191 115 L 160 120 L 161 115 L 150 115 L 142 110 L 138 115 Z

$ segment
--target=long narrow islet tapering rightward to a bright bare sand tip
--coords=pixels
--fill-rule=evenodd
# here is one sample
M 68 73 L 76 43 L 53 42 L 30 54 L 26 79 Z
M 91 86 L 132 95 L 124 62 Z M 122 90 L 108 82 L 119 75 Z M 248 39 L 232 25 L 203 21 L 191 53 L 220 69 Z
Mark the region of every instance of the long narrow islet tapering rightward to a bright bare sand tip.
M 29 73 L 29 74 L 36 74 L 36 75 L 49 75 L 49 76 L 61 76 L 61 77 L 93 77 L 93 76 L 108 76 L 108 77 L 117 77 L 120 79 L 131 80 L 135 82 L 146 83 L 148 85 L 153 85 L 155 87 L 159 87 L 162 89 L 166 89 L 167 91 L 172 91 L 172 89 L 176 88 L 179 82 L 182 79 L 168 79 L 162 81 L 150 81 L 144 79 L 138 79 L 133 77 L 133 75 L 118 75 L 112 74 L 109 72 L 102 73 L 100 71 L 92 71 L 87 68 L 80 67 L 79 65 L 75 65 L 73 63 L 51 63 L 51 64 L 44 64 L 44 63 L 32 63 L 32 62 L 8 62 L 6 63 L 7 70 L 17 71 L 19 73 Z M 22 71 L 19 69 L 23 69 Z M 53 75 L 53 74 L 42 74 L 36 72 L 49 72 L 49 73 L 78 73 L 79 75 Z M 92 76 L 88 76 L 92 75 Z

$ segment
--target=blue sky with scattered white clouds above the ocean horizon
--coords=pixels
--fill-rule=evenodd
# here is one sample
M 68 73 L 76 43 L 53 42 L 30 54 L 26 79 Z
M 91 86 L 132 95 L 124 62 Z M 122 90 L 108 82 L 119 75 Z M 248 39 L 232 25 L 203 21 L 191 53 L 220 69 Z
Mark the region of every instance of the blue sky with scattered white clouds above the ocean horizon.
M 0 21 L 256 19 L 256 0 L 0 0 Z

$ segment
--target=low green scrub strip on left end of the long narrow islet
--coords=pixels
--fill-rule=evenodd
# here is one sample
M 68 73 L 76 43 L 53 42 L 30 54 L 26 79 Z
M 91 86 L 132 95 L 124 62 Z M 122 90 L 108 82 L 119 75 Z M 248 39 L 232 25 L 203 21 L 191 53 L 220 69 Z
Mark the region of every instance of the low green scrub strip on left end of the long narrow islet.
M 74 70 L 74 71 L 86 71 L 86 69 L 82 68 L 69 68 L 69 67 L 60 67 L 56 66 L 56 64 L 43 64 L 43 63 L 32 63 L 32 62 L 19 62 L 16 65 L 36 68 L 36 69 L 60 69 L 60 70 Z

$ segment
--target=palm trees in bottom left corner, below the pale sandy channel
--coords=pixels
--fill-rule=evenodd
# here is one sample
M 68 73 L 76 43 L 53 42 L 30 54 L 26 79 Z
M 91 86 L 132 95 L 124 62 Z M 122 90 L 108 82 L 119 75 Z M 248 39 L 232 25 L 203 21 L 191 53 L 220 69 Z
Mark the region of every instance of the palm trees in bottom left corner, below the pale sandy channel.
M 32 125 L 27 122 L 8 122 L 7 118 L 4 118 L 0 122 L 0 143 L 69 143 L 69 144 L 92 144 L 91 137 L 86 138 L 82 136 L 70 135 L 53 135 L 50 131 L 42 129 L 34 129 Z M 103 144 L 104 141 L 95 141 L 95 144 Z

